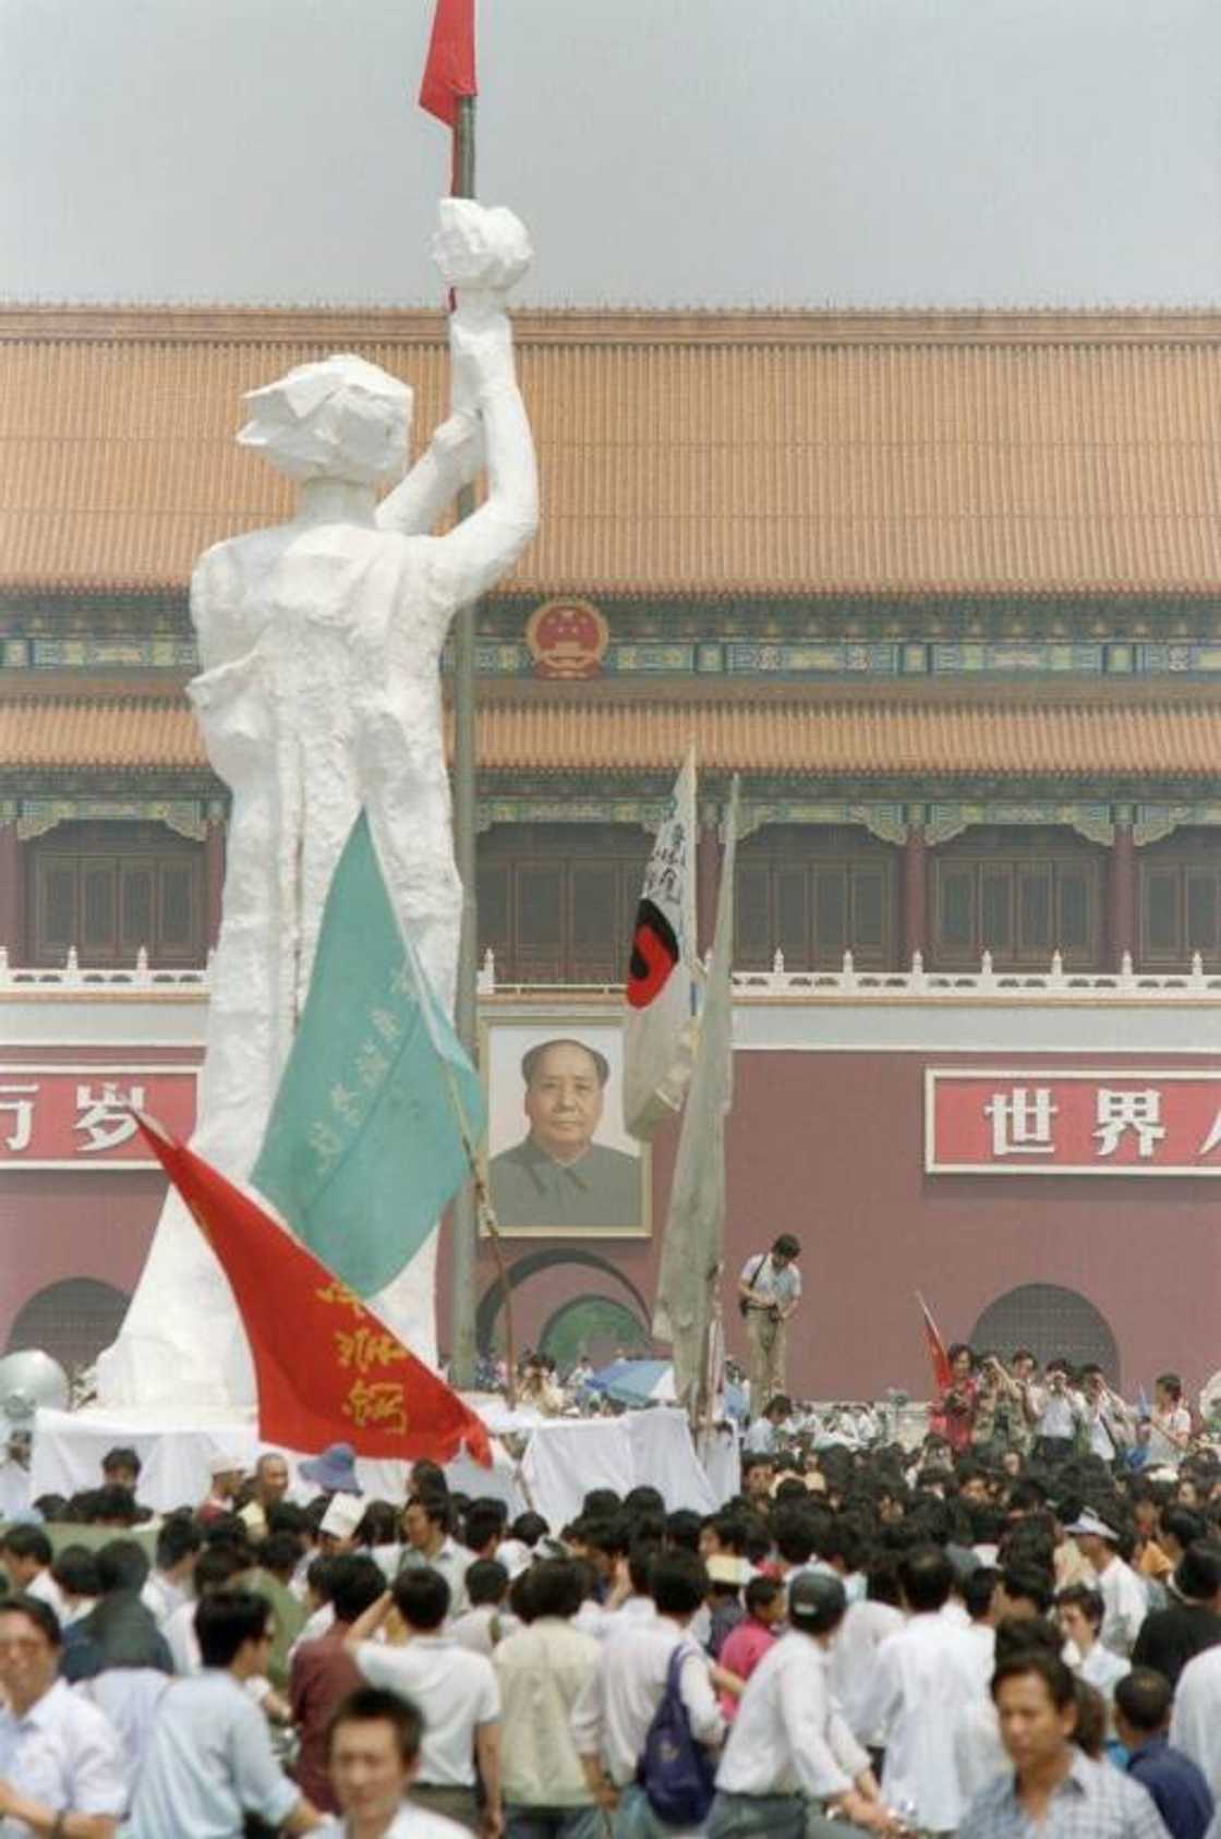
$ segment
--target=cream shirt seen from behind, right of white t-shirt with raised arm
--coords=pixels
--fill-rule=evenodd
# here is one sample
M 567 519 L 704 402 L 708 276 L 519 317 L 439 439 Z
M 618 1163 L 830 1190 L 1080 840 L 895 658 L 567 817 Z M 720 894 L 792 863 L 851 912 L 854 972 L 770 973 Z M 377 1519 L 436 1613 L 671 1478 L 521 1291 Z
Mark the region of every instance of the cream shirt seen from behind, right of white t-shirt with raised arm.
M 599 1653 L 601 1648 L 590 1635 L 581 1635 L 559 1616 L 541 1616 L 496 1648 L 493 1668 L 500 1685 L 506 1804 L 590 1804 L 572 1736 L 572 1712 L 594 1677 Z

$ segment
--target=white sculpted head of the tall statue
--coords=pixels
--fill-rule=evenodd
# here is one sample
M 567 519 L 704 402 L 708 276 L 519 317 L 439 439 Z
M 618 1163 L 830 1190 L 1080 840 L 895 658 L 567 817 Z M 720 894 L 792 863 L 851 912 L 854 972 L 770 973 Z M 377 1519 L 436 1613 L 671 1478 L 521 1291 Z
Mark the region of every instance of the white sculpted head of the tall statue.
M 243 447 L 257 447 L 289 478 L 379 485 L 401 478 L 412 392 L 388 370 L 340 351 L 298 364 L 280 383 L 248 390 Z

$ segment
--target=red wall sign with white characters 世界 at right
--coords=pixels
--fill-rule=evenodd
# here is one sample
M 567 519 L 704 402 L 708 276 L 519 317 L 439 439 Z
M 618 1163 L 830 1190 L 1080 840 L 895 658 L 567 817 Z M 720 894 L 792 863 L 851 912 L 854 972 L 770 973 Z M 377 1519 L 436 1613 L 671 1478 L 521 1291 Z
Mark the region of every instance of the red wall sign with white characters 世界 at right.
M 1221 1175 L 1221 1072 L 925 1070 L 929 1175 Z

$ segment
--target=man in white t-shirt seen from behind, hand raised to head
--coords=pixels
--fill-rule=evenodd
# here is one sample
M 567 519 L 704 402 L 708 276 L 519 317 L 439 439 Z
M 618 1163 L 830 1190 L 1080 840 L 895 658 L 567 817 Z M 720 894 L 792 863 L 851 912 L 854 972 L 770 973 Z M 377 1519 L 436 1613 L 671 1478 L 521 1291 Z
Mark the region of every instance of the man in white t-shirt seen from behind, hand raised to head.
M 373 1639 L 392 1607 L 406 1626 L 401 1646 Z M 427 1707 L 412 1788 L 416 1804 L 496 1839 L 502 1826 L 500 1688 L 489 1659 L 441 1633 L 447 1615 L 449 1583 L 439 1571 L 419 1565 L 399 1572 L 394 1589 L 357 1616 L 344 1646 L 371 1686 Z M 482 1821 L 476 1764 L 484 1788 Z

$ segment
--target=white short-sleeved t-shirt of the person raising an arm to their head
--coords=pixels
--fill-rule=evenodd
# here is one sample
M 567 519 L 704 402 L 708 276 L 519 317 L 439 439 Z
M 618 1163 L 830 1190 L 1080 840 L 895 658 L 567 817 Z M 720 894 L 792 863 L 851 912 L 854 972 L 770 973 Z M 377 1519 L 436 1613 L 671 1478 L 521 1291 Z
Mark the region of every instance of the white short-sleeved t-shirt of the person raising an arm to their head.
M 362 1640 L 353 1659 L 371 1686 L 399 1692 L 423 1710 L 419 1780 L 474 1788 L 474 1730 L 500 1718 L 491 1661 L 447 1635 L 412 1635 L 401 1648 Z

